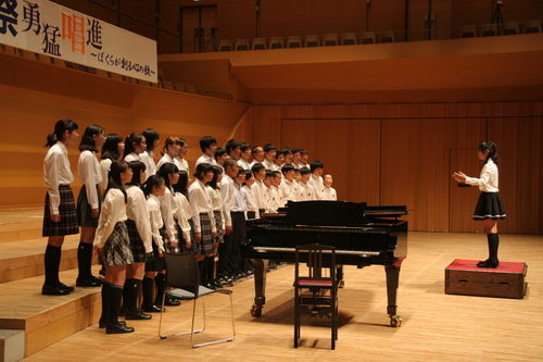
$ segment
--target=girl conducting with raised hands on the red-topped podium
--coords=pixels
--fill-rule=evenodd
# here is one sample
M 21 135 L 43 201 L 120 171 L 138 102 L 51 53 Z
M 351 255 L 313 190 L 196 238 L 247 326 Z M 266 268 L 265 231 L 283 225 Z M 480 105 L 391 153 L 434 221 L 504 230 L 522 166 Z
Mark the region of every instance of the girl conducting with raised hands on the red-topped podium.
M 497 260 L 497 247 L 500 245 L 497 221 L 506 217 L 498 189 L 496 145 L 492 141 L 482 142 L 477 151 L 479 160 L 484 161 L 479 178 L 468 177 L 463 172 L 455 172 L 453 178 L 458 183 L 477 185 L 481 190 L 473 220 L 484 223 L 484 233 L 489 244 L 489 259 L 477 263 L 477 266 L 495 269 L 500 265 Z

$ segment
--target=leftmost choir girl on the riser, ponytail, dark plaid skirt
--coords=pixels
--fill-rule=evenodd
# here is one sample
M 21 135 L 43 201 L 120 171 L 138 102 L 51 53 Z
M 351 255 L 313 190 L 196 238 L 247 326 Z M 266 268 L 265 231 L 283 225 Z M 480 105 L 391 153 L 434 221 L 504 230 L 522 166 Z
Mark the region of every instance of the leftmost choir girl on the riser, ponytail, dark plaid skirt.
M 47 137 L 49 147 L 43 161 L 43 180 L 47 186 L 46 207 L 43 210 L 42 235 L 48 237 L 43 259 L 46 280 L 42 295 L 65 296 L 74 290 L 59 280 L 62 245 L 64 236 L 79 233 L 74 192 L 70 184 L 74 175 L 70 167 L 67 147 L 77 142 L 77 123 L 72 120 L 60 120 L 54 132 Z

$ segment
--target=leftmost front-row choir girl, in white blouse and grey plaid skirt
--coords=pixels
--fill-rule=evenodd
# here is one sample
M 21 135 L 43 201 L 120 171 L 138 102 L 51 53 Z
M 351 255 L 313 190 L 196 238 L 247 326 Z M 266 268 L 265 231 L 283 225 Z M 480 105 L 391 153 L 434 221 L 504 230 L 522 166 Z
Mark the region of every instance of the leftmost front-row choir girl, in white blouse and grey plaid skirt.
M 125 161 L 111 164 L 108 190 L 105 191 L 100 221 L 98 223 L 94 251 L 105 266 L 102 284 L 102 315 L 99 325 L 106 334 L 134 332 L 118 322 L 126 265 L 134 263 L 130 240 L 125 224 L 127 195 L 124 185 L 132 178 L 132 171 Z

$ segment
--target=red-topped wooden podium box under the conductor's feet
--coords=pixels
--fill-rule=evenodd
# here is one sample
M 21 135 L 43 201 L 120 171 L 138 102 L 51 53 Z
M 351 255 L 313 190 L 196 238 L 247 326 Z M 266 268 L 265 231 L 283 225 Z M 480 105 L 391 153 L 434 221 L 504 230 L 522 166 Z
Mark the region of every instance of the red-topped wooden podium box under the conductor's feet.
M 496 269 L 477 267 L 478 261 L 456 259 L 445 269 L 445 294 L 522 299 L 528 265 L 500 262 Z

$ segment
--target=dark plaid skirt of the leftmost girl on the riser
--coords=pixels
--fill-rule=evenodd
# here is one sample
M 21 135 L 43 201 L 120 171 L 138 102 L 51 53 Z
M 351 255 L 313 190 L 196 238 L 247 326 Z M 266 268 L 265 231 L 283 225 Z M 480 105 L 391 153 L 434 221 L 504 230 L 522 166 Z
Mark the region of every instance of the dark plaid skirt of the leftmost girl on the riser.
M 43 210 L 43 227 L 42 236 L 61 236 L 79 234 L 77 226 L 77 211 L 75 208 L 74 192 L 70 185 L 59 185 L 59 194 L 61 204 L 59 205 L 59 214 L 61 221 L 53 223 L 51 221 L 51 210 L 49 202 L 49 192 L 46 192 L 46 208 Z

